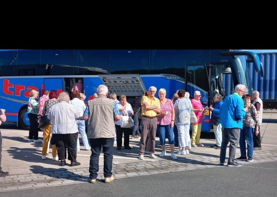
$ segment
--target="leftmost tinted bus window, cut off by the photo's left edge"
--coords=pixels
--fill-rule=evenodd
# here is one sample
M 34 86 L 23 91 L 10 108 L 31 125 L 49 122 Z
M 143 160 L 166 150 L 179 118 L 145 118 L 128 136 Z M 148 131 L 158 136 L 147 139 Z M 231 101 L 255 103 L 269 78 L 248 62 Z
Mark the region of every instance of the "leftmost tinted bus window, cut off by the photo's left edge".
M 1 51 L 0 76 L 13 76 L 14 51 Z

